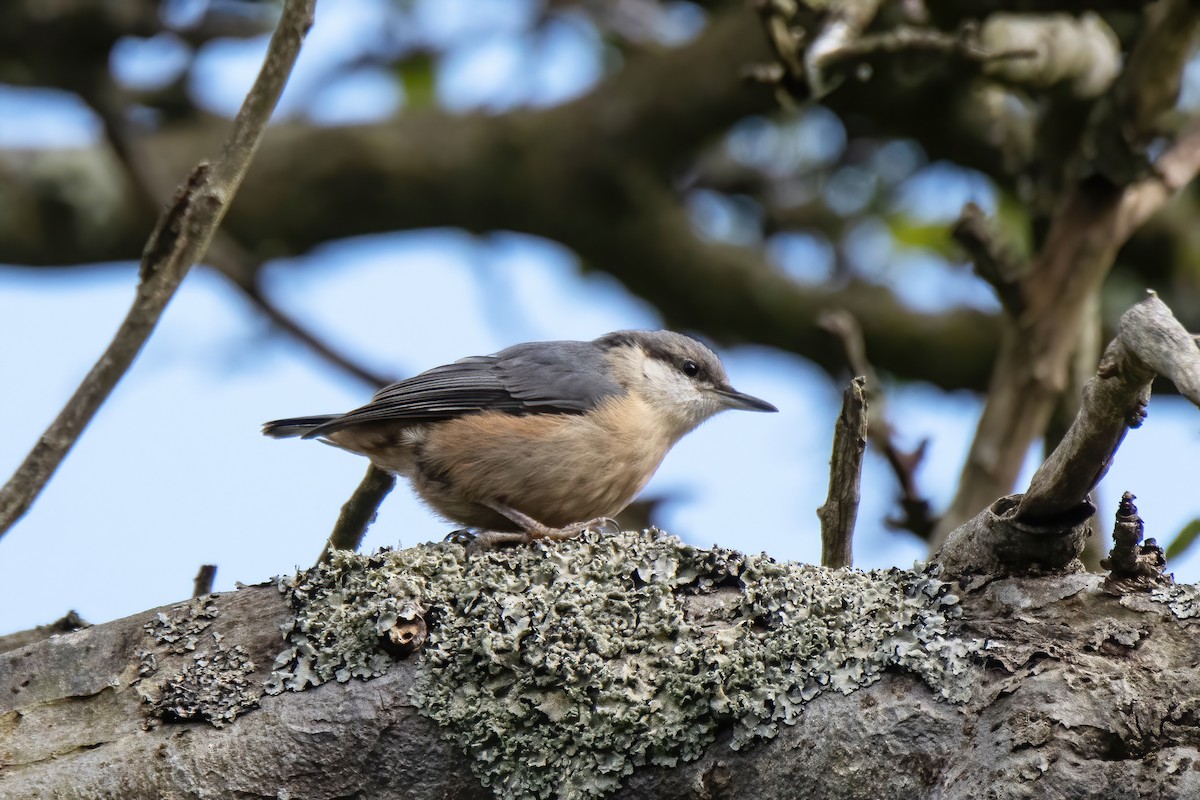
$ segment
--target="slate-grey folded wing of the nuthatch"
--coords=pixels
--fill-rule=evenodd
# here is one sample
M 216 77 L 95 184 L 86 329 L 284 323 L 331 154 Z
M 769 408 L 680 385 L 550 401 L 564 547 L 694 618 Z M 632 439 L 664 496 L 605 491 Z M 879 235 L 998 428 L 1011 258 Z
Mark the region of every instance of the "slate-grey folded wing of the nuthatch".
M 604 353 L 592 342 L 529 342 L 462 359 L 379 390 L 306 438 L 367 422 L 434 422 L 487 410 L 581 414 L 622 391 Z

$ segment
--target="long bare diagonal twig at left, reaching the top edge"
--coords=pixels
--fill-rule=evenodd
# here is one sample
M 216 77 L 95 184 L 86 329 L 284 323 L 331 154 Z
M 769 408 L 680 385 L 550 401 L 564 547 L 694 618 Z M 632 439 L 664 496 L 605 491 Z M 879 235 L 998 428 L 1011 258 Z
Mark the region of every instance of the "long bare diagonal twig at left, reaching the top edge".
M 314 4 L 288 0 L 263 68 L 238 112 L 221 156 L 214 163 L 199 163 L 158 218 L 142 255 L 137 295 L 125 321 L 58 419 L 0 489 L 0 536 L 32 505 L 154 332 L 192 264 L 204 257 L 283 92 L 312 25 Z

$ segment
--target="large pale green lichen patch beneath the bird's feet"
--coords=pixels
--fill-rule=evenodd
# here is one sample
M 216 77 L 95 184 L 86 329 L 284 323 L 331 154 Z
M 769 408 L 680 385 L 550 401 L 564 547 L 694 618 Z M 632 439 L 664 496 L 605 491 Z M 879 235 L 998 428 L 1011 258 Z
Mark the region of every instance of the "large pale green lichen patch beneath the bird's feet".
M 596 798 L 642 764 L 773 736 L 821 692 L 887 669 L 964 702 L 978 640 L 935 577 L 776 563 L 649 531 L 463 558 L 338 554 L 281 583 L 296 608 L 272 691 L 388 668 L 379 636 L 426 609 L 410 697 L 506 798 Z M 720 602 L 703 602 L 706 597 Z

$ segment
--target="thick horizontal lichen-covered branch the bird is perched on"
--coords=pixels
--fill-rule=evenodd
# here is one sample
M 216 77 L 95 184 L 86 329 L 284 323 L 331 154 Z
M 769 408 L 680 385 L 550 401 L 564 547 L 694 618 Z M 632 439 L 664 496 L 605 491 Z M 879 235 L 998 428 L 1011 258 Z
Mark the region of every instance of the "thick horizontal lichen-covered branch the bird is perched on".
M 1194 588 L 948 589 L 635 533 L 338 553 L 0 654 L 0 794 L 1200 792 Z

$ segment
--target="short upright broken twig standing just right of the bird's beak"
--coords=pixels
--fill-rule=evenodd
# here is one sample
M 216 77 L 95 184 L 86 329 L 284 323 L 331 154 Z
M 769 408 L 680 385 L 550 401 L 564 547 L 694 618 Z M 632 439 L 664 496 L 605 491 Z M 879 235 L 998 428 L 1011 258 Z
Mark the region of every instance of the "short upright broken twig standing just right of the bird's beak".
M 858 517 L 863 452 L 866 450 L 865 378 L 854 378 L 842 395 L 841 414 L 833 434 L 833 458 L 829 463 L 829 497 L 817 509 L 821 518 L 821 565 L 850 566 L 851 543 Z

